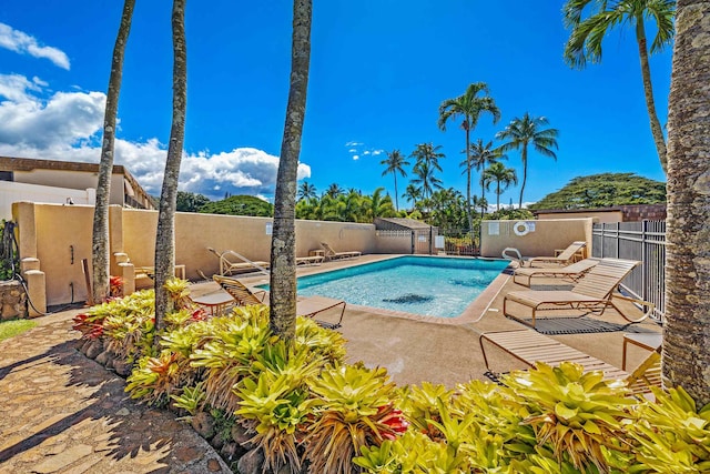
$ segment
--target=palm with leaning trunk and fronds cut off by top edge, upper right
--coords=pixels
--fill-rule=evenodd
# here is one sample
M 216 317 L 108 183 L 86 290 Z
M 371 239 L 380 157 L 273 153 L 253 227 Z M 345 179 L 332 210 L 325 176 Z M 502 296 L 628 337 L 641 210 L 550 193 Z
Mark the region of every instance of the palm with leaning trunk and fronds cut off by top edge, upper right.
M 609 4 L 610 3 L 610 4 Z M 584 10 L 594 4 L 598 8 L 582 20 Z M 656 20 L 657 32 L 651 43 L 651 54 L 661 51 L 673 40 L 674 0 L 617 0 L 613 2 L 600 0 L 568 0 L 562 8 L 565 26 L 571 29 L 571 34 L 565 46 L 565 60 L 572 68 L 584 68 L 587 61 L 601 61 L 601 41 L 607 31 L 616 26 L 628 24 L 636 32 L 639 58 L 641 60 L 641 78 L 646 108 L 651 122 L 651 133 L 656 142 L 658 158 L 667 169 L 666 141 L 663 131 L 656 113 L 653 87 L 651 83 L 651 68 L 648 61 L 648 46 L 646 40 L 645 19 Z M 609 7 L 609 8 L 607 8 Z

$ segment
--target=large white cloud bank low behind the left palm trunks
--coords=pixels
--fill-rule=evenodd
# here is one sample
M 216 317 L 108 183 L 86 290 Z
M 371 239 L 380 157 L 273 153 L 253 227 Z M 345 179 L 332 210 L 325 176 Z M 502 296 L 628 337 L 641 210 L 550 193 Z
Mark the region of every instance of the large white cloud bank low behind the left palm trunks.
M 105 95 L 101 92 L 57 92 L 45 101 L 40 80 L 0 74 L 0 155 L 97 163 Z M 159 194 L 168 148 L 153 138 L 144 142 L 115 140 L 115 164 L 123 164 L 151 194 Z M 222 199 L 232 194 L 273 194 L 278 158 L 254 148 L 183 154 L 180 189 Z M 298 179 L 311 167 L 298 164 Z

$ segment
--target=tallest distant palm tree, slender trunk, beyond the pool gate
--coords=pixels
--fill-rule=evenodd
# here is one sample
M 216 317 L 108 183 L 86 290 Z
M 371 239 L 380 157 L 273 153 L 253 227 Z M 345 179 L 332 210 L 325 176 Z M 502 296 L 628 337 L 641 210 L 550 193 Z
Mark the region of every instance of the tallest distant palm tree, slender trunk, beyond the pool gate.
M 478 93 L 485 95 L 479 97 Z M 474 219 L 470 213 L 470 131 L 476 128 L 481 113 L 493 115 L 493 122 L 500 120 L 500 111 L 496 102 L 488 95 L 488 85 L 485 82 L 474 82 L 468 85 L 466 92 L 456 99 L 447 99 L 439 105 L 439 129 L 446 131 L 446 122 L 449 119 L 462 117 L 462 129 L 466 132 L 466 215 L 468 229 L 474 229 Z

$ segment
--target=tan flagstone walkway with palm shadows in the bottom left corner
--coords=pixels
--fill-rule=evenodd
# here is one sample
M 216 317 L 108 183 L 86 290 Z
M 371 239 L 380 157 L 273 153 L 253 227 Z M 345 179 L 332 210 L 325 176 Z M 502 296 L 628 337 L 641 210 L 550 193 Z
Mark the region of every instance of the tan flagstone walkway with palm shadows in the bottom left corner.
M 192 427 L 77 351 L 79 311 L 0 342 L 0 473 L 231 473 Z

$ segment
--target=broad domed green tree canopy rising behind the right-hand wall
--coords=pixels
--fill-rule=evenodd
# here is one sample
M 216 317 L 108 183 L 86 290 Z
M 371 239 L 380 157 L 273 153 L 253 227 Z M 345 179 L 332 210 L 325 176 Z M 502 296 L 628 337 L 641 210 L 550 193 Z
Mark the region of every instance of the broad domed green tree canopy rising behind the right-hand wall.
M 575 178 L 530 209 L 597 209 L 665 202 L 666 183 L 633 173 L 602 173 Z

